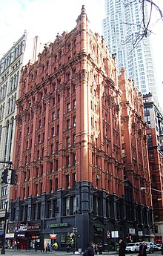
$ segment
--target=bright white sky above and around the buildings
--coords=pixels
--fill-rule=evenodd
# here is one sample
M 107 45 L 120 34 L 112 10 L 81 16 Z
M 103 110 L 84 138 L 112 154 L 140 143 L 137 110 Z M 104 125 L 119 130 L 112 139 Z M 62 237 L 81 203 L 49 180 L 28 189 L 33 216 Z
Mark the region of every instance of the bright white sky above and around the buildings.
M 163 0 L 155 0 L 162 7 Z M 41 43 L 54 42 L 57 33 L 73 30 L 76 19 L 85 6 L 90 29 L 102 35 L 104 0 L 0 0 L 0 59 L 27 30 L 31 38 L 39 36 Z M 157 22 L 151 36 L 159 85 L 159 103 L 163 109 L 163 22 Z

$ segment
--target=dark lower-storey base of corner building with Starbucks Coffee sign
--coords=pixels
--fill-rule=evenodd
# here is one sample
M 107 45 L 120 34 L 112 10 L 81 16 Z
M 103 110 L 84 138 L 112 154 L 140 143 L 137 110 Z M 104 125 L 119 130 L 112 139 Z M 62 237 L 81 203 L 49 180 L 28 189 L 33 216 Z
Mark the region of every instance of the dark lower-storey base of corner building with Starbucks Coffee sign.
M 153 233 L 151 209 L 144 211 L 133 200 L 98 191 L 87 182 L 76 183 L 75 189 L 59 189 L 56 193 L 44 193 L 38 198 L 19 200 L 13 209 L 15 207 L 17 212 L 20 206 L 22 209 L 28 206 L 26 216 L 28 219 L 35 216 L 36 219 L 18 221 L 18 232 L 14 231 L 17 239 L 26 240 L 27 249 L 35 244 L 37 249 L 43 249 L 47 243 L 53 244 L 56 240 L 60 250 L 66 250 L 67 243 L 70 243 L 72 250 L 76 247 L 84 249 L 89 241 L 102 243 L 108 250 L 113 249 L 121 237 L 138 240 L 139 234 L 144 234 L 144 226 L 148 226 L 145 233 Z M 33 212 L 36 214 L 33 215 Z M 143 216 L 146 212 L 148 217 Z M 26 230 L 20 230 L 20 224 L 26 225 L 23 228 Z M 130 234 L 131 229 L 134 229 L 134 234 Z M 115 231 L 119 237 L 112 236 Z M 18 234 L 24 234 L 24 237 L 18 237 Z M 51 239 L 50 234 L 56 234 L 55 239 Z

